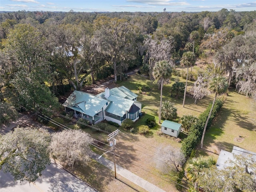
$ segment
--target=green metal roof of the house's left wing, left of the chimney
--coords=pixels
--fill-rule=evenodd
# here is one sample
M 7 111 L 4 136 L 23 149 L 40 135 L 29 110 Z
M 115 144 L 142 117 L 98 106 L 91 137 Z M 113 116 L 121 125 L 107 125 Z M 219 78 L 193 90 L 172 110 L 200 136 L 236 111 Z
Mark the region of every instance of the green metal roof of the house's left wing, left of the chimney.
M 106 105 L 106 102 L 108 101 L 105 99 L 75 90 L 62 105 L 86 115 L 94 116 Z

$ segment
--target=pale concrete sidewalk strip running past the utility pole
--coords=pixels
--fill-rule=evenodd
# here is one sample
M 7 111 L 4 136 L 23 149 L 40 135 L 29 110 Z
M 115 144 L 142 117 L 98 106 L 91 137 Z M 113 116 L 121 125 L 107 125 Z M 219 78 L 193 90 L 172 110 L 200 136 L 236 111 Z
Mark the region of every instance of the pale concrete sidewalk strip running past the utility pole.
M 90 152 L 89 156 L 99 162 L 100 164 L 106 166 L 110 170 L 114 171 L 114 163 L 110 160 L 107 160 L 106 158 L 102 157 L 99 159 L 98 154 L 94 152 Z M 153 185 L 152 183 L 140 178 L 139 176 L 133 174 L 132 172 L 122 168 L 121 166 L 116 164 L 116 173 L 120 176 L 130 180 L 134 184 L 144 188 L 148 192 L 165 192 L 164 190 L 160 189 L 159 187 Z

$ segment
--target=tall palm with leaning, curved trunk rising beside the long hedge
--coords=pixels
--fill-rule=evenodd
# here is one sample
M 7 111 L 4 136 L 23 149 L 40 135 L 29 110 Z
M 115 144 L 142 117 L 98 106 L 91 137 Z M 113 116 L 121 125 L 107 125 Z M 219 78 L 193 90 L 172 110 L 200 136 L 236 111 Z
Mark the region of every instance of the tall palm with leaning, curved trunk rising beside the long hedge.
M 212 108 L 209 112 L 208 118 L 207 118 L 205 126 L 204 126 L 204 132 L 203 132 L 202 140 L 201 140 L 201 149 L 203 148 L 204 134 L 205 134 L 206 127 L 207 127 L 208 121 L 210 119 L 210 116 L 212 115 L 212 109 L 214 107 L 215 100 L 216 100 L 218 95 L 223 94 L 228 90 L 228 82 L 227 82 L 226 78 L 224 78 L 222 76 L 214 77 L 210 81 L 208 89 L 209 89 L 210 92 L 215 93 L 215 97 L 214 97 L 214 100 L 213 100 L 213 103 L 212 103 Z

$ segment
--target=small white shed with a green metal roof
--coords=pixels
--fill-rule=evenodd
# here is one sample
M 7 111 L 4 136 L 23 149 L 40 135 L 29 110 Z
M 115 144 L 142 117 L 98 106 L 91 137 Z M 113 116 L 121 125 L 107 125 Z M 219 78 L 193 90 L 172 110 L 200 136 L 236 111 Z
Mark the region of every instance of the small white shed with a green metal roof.
M 181 131 L 181 124 L 164 120 L 161 125 L 161 131 L 164 134 L 168 134 L 170 136 L 178 137 Z

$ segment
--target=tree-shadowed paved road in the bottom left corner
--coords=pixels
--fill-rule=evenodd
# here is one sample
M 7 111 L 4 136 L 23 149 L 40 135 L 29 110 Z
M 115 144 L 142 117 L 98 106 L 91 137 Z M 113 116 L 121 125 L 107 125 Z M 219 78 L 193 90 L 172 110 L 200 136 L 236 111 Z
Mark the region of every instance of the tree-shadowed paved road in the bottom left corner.
M 28 182 L 16 183 L 13 177 L 0 172 L 0 192 L 97 192 L 58 164 L 52 162 L 42 172 L 35 184 Z

